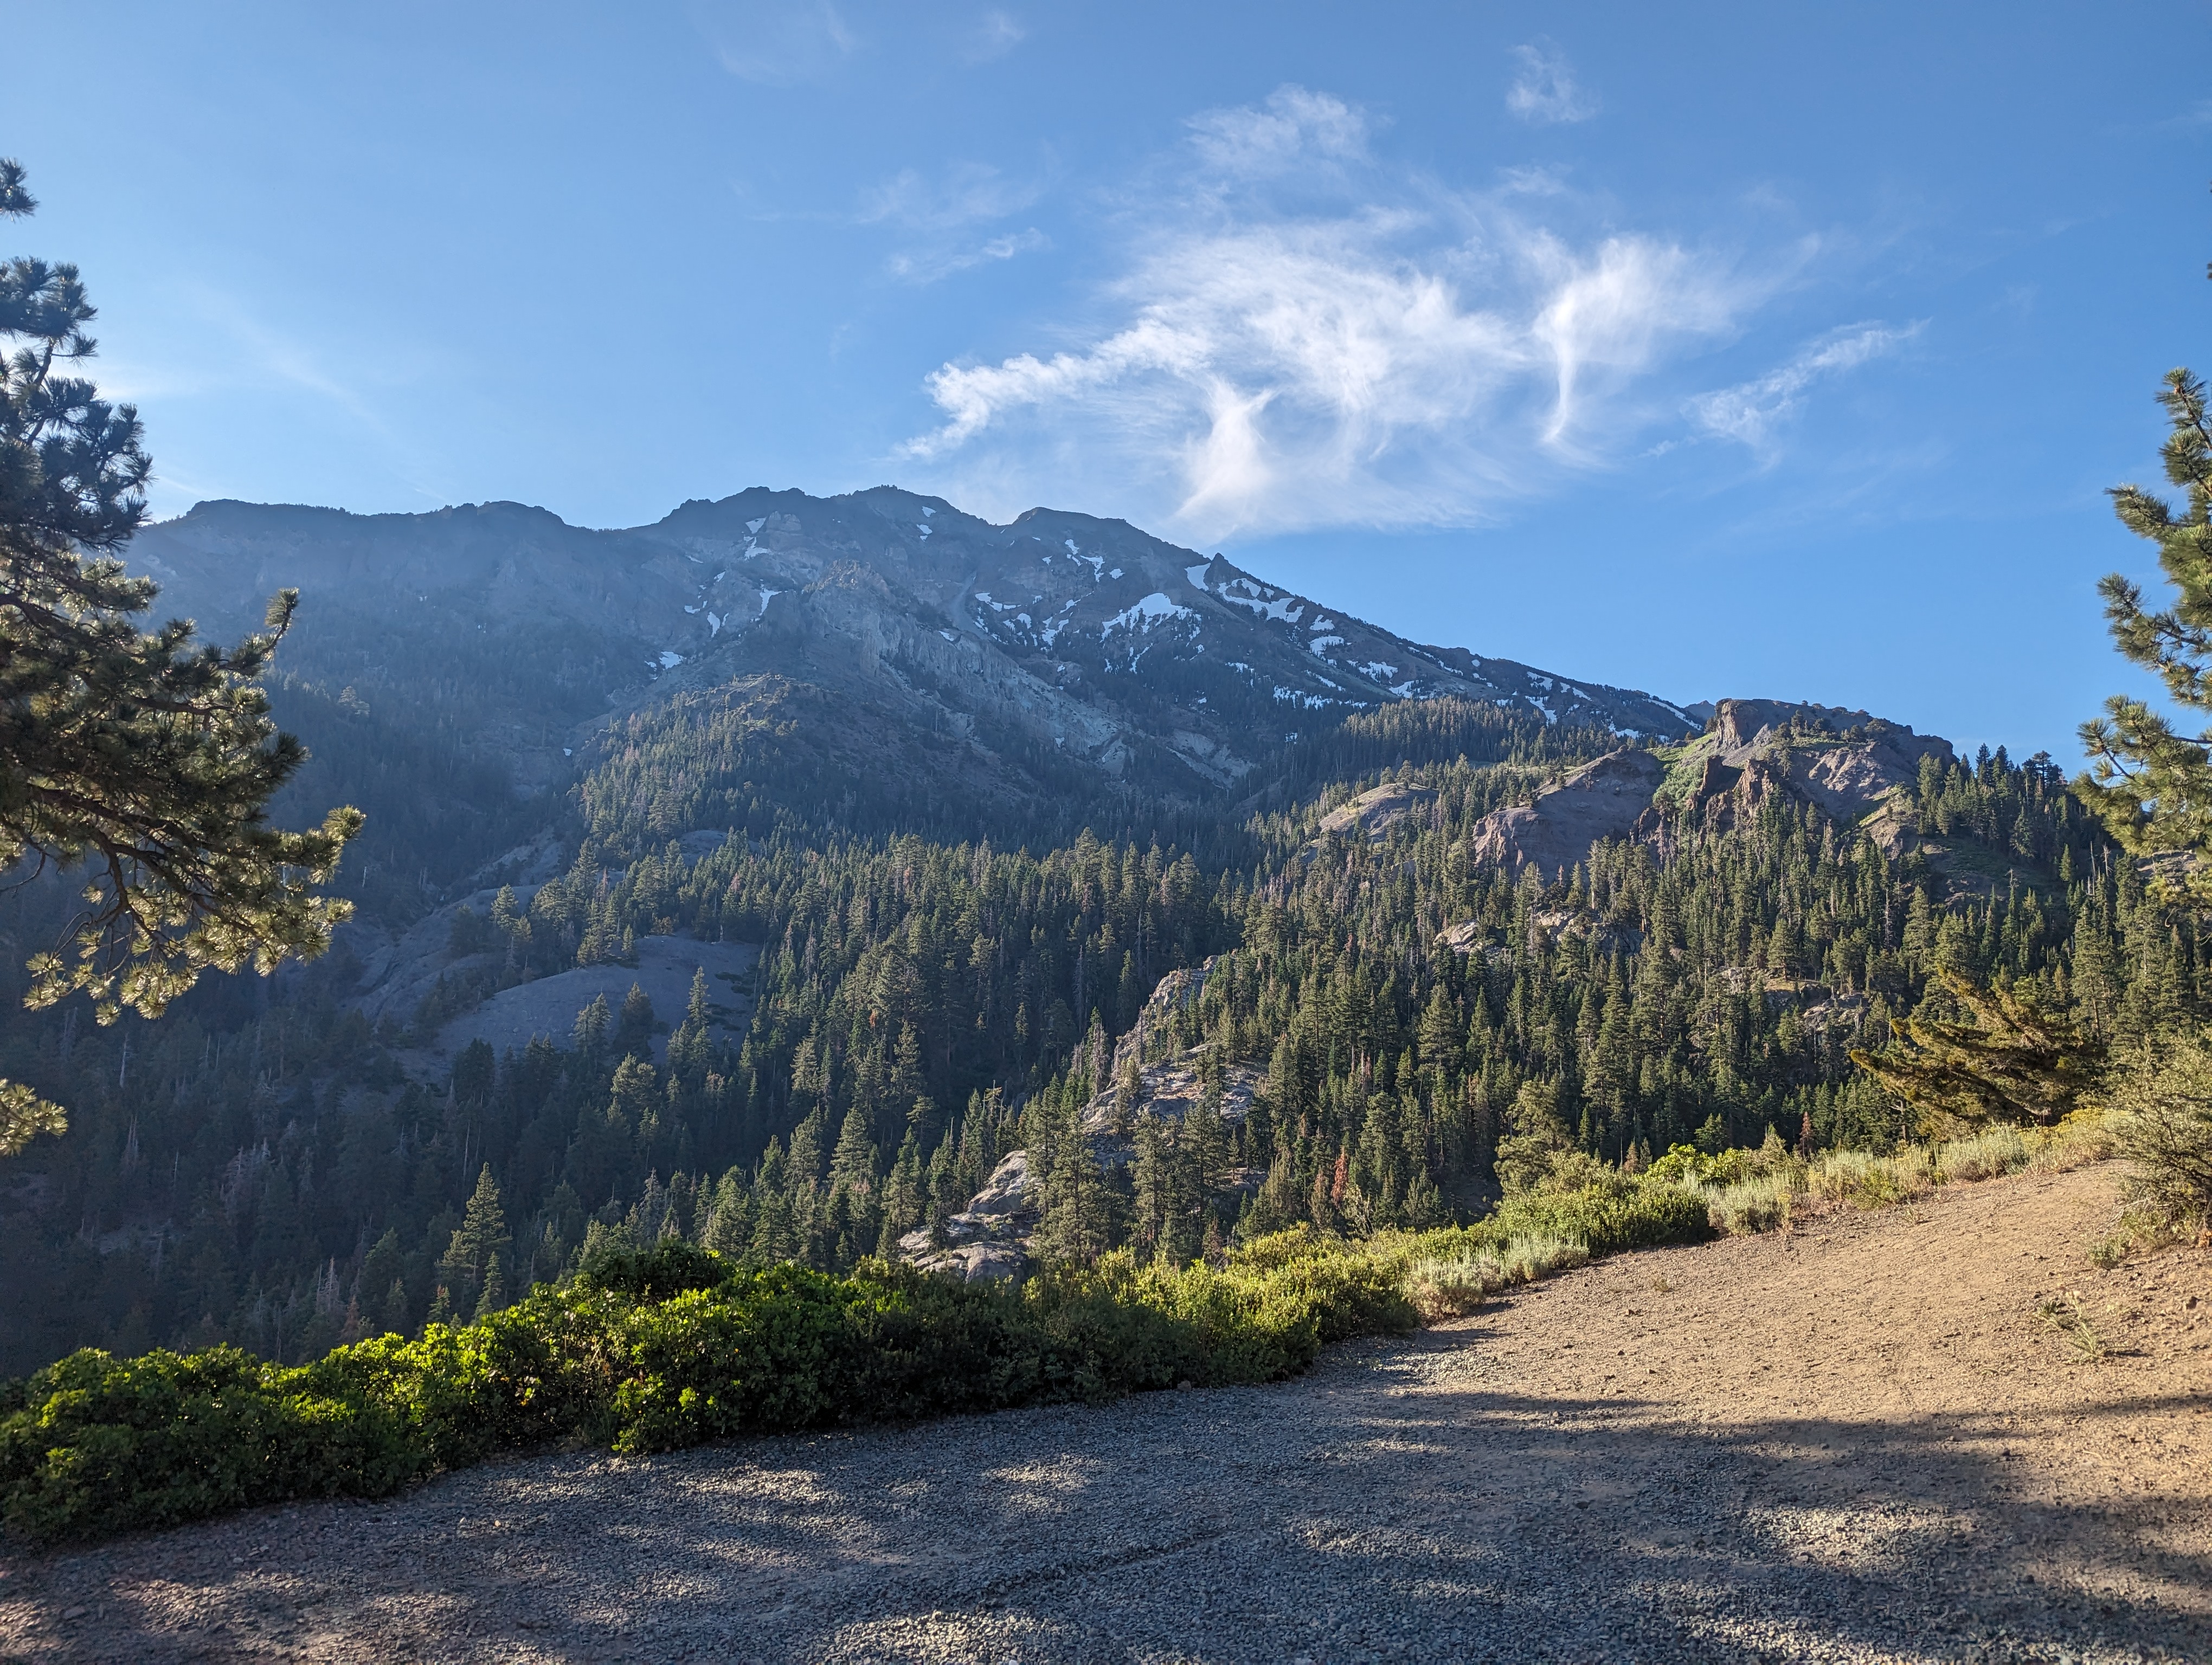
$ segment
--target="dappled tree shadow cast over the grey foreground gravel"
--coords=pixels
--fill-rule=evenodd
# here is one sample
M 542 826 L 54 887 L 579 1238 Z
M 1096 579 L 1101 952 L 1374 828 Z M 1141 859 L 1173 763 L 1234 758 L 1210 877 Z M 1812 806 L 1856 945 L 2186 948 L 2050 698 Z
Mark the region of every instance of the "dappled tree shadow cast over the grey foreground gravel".
M 1274 1389 L 540 1457 L 20 1561 L 0 1605 L 35 1610 L 24 1658 L 2212 1658 L 2166 1605 L 2212 1588 L 2194 1501 L 2068 1508 L 1991 1417 L 1714 1431 L 1425 1382 L 1471 1340 Z M 2101 1572 L 2046 1583 L 2059 1541 Z

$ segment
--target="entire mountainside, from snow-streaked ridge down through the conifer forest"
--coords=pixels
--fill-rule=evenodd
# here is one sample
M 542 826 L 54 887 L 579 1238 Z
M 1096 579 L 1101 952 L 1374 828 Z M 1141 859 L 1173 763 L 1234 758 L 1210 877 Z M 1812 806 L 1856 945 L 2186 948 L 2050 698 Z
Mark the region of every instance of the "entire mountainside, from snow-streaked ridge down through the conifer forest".
M 367 809 L 361 911 L 102 1030 L 15 1006 L 64 887 L 0 904 L 0 1070 L 73 1117 L 0 1185 L 0 1373 L 314 1358 L 608 1234 L 1469 1221 L 1500 1161 L 1885 1148 L 1849 1048 L 1938 964 L 2121 1041 L 2212 988 L 2046 758 L 1422 648 L 1115 522 L 204 504 L 133 559 L 219 635 L 303 588 L 285 814 Z

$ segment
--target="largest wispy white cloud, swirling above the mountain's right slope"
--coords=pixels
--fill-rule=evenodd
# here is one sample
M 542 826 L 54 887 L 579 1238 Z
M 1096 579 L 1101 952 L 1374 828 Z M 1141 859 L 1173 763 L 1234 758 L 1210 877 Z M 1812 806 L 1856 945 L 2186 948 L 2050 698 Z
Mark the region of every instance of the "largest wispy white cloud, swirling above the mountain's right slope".
M 1210 113 L 1172 188 L 1130 206 L 1093 325 L 940 367 L 942 420 L 902 455 L 993 509 L 1084 500 L 1190 535 L 1482 522 L 1621 455 L 1677 409 L 1646 383 L 1803 259 L 1577 219 L 1597 214 L 1564 190 L 1376 164 L 1321 93 Z

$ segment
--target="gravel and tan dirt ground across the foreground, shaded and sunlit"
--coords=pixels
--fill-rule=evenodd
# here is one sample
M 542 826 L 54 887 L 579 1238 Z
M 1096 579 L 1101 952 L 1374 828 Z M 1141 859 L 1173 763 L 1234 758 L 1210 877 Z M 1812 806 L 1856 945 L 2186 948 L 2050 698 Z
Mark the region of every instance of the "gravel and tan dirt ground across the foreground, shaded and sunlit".
M 11 1557 L 0 1656 L 2212 1661 L 2212 1254 L 2093 1269 L 2115 1198 L 1621 1256 L 1272 1389 Z

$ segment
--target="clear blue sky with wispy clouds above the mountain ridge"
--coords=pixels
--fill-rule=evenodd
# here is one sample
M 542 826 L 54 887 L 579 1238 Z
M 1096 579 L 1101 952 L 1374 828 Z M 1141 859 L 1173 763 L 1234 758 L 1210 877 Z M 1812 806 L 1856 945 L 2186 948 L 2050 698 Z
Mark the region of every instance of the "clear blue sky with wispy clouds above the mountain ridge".
M 0 29 L 7 252 L 84 268 L 161 513 L 889 480 L 1679 701 L 2073 763 L 2141 685 L 2093 584 L 2212 371 L 2201 4 Z

